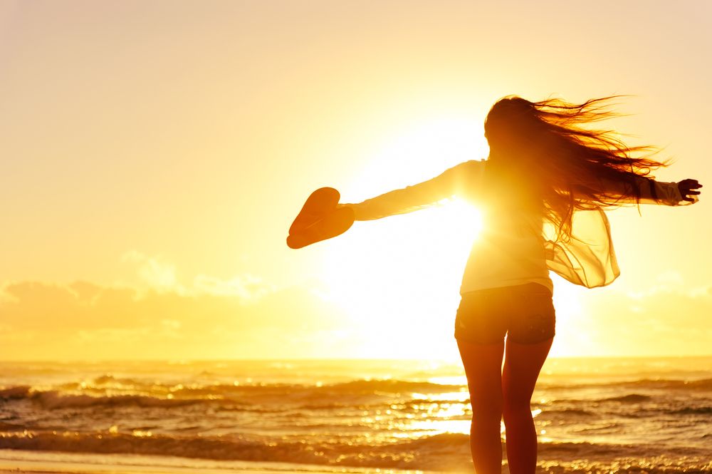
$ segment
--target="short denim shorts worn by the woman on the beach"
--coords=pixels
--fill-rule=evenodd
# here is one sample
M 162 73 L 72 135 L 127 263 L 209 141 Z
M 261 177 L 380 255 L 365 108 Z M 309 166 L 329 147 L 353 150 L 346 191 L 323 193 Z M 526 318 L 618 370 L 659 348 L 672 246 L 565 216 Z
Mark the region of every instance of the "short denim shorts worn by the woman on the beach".
M 462 295 L 455 317 L 455 338 L 473 344 L 508 340 L 536 344 L 554 336 L 555 311 L 550 290 L 537 283 L 481 289 Z

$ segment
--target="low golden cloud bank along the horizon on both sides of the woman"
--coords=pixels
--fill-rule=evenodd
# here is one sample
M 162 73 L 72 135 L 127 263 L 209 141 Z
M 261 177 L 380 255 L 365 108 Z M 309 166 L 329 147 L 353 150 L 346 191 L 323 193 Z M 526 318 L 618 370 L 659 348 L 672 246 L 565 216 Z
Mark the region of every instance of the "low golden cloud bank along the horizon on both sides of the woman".
M 0 357 L 397 356 L 398 347 L 451 344 L 450 332 L 440 334 L 430 322 L 409 324 L 401 332 L 395 314 L 390 322 L 352 314 L 353 303 L 345 309 L 318 281 L 276 288 L 252 274 L 229 279 L 201 274 L 184 283 L 175 265 L 161 257 L 132 251 L 124 261 L 136 265 L 140 285 L 24 281 L 0 287 Z M 561 301 L 561 295 L 557 299 L 559 355 L 710 353 L 712 287 L 691 287 L 676 272 L 661 274 L 654 285 L 636 291 L 613 285 L 580 292 L 576 304 Z M 394 311 L 402 307 L 400 300 L 394 303 Z M 363 315 L 373 309 L 366 304 L 361 310 Z M 402 344 L 391 344 L 393 331 Z

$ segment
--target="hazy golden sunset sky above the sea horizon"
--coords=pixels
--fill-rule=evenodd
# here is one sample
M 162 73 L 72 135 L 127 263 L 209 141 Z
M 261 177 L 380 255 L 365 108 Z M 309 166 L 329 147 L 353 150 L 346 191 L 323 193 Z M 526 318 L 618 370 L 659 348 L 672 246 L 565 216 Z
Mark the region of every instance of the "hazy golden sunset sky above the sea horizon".
M 0 359 L 455 359 L 462 202 L 304 249 L 486 158 L 516 94 L 626 94 L 610 127 L 708 182 L 712 4 L 0 0 Z M 463 216 L 466 216 L 463 219 Z M 622 275 L 555 278 L 553 356 L 710 354 L 712 207 L 609 213 Z

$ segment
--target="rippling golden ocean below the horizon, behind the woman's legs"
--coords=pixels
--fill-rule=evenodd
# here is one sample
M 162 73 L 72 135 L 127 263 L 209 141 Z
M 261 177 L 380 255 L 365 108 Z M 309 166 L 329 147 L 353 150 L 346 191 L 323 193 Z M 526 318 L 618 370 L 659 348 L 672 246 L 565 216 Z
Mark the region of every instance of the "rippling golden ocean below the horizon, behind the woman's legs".
M 712 473 L 712 357 L 550 359 L 531 408 L 542 472 Z M 0 363 L 5 465 L 472 472 L 470 416 L 459 362 Z

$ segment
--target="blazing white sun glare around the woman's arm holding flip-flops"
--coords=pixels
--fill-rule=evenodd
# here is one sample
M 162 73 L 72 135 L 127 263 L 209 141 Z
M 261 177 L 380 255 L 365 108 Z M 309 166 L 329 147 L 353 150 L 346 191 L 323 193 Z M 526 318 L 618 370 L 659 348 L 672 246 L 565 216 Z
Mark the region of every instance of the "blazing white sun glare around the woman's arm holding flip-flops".
M 478 130 L 481 124 L 465 118 L 414 124 L 375 150 L 354 180 L 362 186 L 358 193 L 342 195 L 373 197 L 484 158 Z M 364 356 L 456 356 L 451 328 L 462 273 L 481 226 L 477 208 L 453 198 L 407 215 L 356 222 L 325 245 L 320 278 L 330 300 L 360 331 Z

